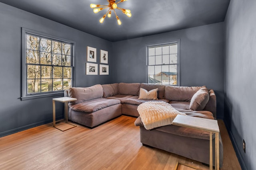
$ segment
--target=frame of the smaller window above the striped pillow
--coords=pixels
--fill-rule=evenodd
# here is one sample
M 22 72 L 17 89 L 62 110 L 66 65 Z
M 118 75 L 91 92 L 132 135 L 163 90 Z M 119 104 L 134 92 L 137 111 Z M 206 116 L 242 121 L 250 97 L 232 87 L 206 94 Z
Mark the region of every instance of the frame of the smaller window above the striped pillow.
M 146 45 L 146 69 L 147 69 L 147 75 L 146 75 L 146 82 L 148 82 L 148 66 L 152 66 L 149 65 L 149 54 L 148 54 L 148 50 L 150 47 L 157 47 L 157 46 L 164 46 L 167 44 L 177 44 L 177 84 L 169 84 L 171 86 L 180 86 L 180 39 L 176 39 L 176 40 L 171 40 L 171 41 L 164 41 L 164 42 L 159 42 L 159 43 L 151 43 L 151 44 L 147 44 Z M 169 54 L 170 55 L 170 54 Z M 167 64 L 157 64 L 158 66 L 163 66 L 163 65 L 167 65 Z M 173 65 L 173 64 L 168 64 L 168 65 Z M 154 65 L 156 66 L 156 64 Z M 162 84 L 162 82 L 161 82 Z

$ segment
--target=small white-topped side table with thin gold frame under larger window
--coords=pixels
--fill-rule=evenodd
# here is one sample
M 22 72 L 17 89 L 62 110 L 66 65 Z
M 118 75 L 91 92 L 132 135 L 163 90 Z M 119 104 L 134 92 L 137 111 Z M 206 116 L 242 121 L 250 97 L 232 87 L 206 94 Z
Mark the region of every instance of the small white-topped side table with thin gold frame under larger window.
M 55 101 L 62 102 L 65 105 L 65 123 L 60 122 L 60 123 L 58 123 L 58 125 L 56 125 L 56 121 L 55 121 Z M 76 101 L 76 98 L 62 97 L 62 98 L 53 98 L 52 99 L 53 127 L 57 128 L 61 131 L 66 131 L 68 129 L 76 127 L 76 125 L 72 125 L 71 123 L 68 123 L 68 102 L 71 102 L 71 101 Z

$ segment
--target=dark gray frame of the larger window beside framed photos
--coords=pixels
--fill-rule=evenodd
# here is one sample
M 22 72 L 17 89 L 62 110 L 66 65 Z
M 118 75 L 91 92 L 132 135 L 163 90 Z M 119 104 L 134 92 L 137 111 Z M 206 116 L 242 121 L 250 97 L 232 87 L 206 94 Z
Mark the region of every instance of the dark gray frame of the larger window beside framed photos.
M 60 96 L 64 94 L 64 90 L 58 90 L 58 91 L 50 91 L 50 92 L 38 92 L 38 93 L 28 93 L 28 88 L 27 88 L 27 63 L 26 63 L 26 35 L 34 35 L 36 37 L 42 37 L 46 39 L 51 39 L 54 41 L 60 41 L 64 43 L 69 43 L 71 44 L 71 51 L 70 51 L 70 56 L 71 56 L 71 70 L 72 70 L 72 75 L 71 75 L 71 87 L 74 86 L 74 47 L 75 47 L 75 42 L 71 40 L 67 40 L 64 38 L 56 37 L 54 35 L 49 35 L 46 33 L 41 33 L 38 31 L 34 31 L 31 29 L 27 28 L 22 28 L 22 75 L 21 75 L 21 100 L 30 100 L 30 99 L 36 99 L 36 98 L 42 98 L 42 97 L 51 97 L 51 96 Z M 50 65 L 51 66 L 51 65 Z M 63 79 L 63 77 L 62 77 Z

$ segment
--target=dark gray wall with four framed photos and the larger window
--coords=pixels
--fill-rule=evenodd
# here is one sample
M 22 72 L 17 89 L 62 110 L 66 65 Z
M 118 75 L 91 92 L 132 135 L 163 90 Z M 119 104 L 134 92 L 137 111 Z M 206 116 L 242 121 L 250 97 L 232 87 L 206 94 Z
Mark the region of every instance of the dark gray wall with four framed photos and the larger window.
M 52 98 L 20 101 L 21 27 L 33 29 L 76 42 L 75 86 L 91 86 L 112 82 L 112 76 L 86 75 L 86 46 L 108 51 L 112 75 L 112 43 L 60 23 L 0 3 L 0 137 L 52 121 Z M 63 104 L 56 102 L 56 117 L 63 117 Z

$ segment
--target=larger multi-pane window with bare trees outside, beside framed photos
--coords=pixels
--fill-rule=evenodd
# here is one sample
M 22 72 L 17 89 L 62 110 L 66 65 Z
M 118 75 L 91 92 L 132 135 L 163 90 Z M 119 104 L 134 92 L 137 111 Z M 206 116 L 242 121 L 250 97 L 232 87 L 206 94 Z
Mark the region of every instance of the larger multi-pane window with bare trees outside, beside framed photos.
M 24 96 L 63 92 L 73 84 L 73 44 L 29 32 L 24 33 Z

